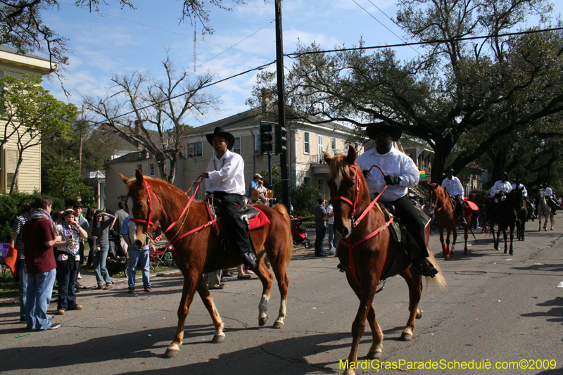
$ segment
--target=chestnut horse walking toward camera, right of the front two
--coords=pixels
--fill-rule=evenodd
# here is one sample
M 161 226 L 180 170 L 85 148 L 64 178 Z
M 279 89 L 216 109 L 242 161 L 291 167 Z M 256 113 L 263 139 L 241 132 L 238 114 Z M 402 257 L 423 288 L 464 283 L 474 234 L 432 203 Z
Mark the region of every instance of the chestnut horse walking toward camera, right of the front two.
M 405 241 L 396 243 L 392 239 L 386 230 L 388 222 L 379 203 L 371 205 L 364 176 L 355 163 L 356 156 L 353 146 L 348 148 L 348 156 L 339 154 L 331 158 L 328 153 L 324 153 L 324 160 L 329 166 L 328 184 L 334 207 L 334 230 L 341 239 L 337 254 L 341 267 L 346 272 L 348 284 L 360 298 L 360 307 L 352 324 L 353 341 L 348 356 L 349 366 L 350 363 L 356 364 L 358 361 L 358 344 L 364 334 L 366 319 L 373 337 L 367 356 L 369 359 L 381 356 L 383 332 L 377 324 L 372 305 L 377 284 L 381 279 L 400 274 L 407 281 L 410 315 L 407 326 L 401 333 L 403 341 L 412 339 L 415 319 L 422 317 L 418 308 L 422 293 L 422 276 L 411 273 L 410 256 L 405 251 Z M 356 212 L 359 218 L 355 216 Z M 428 244 L 429 225 L 426 225 L 425 234 Z M 432 253 L 429 260 L 439 269 Z M 442 272 L 431 280 L 440 286 L 446 285 Z M 349 367 L 344 374 L 355 374 L 355 371 Z

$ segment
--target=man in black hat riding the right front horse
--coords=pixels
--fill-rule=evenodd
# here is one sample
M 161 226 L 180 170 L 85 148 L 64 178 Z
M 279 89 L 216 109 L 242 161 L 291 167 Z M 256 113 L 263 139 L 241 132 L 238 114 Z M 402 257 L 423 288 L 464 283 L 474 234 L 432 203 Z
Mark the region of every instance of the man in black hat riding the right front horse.
M 426 260 L 429 254 L 424 240 L 424 225 L 420 222 L 419 214 L 407 196 L 408 188 L 418 184 L 420 172 L 408 155 L 393 147 L 393 141 L 398 141 L 403 131 L 396 125 L 379 122 L 369 125 L 366 132 L 370 139 L 374 139 L 376 147 L 362 153 L 356 162 L 364 172 L 371 198 L 375 198 L 387 186 L 381 194 L 380 201 L 393 203 L 395 215 L 405 224 L 419 248 L 410 249 L 412 272 L 434 277 L 438 269 Z M 369 173 L 372 165 L 378 165 L 385 177 L 379 170 Z

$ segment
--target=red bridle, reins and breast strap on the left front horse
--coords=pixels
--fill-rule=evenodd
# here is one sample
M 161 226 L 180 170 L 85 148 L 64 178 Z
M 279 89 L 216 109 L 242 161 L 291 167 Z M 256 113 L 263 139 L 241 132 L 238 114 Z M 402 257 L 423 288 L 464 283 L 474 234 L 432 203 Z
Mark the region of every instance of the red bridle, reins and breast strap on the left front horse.
M 215 219 L 210 220 L 209 222 L 201 225 L 200 227 L 191 229 L 191 231 L 188 231 L 184 234 L 182 234 L 181 236 L 178 237 L 179 231 L 182 229 L 182 227 L 184 226 L 184 222 L 186 222 L 186 218 L 188 217 L 189 214 L 189 207 L 191 205 L 191 202 L 194 201 L 194 198 L 196 197 L 196 193 L 199 189 L 199 186 L 201 186 L 201 182 L 203 182 L 203 174 L 201 174 L 200 176 L 198 176 L 198 178 L 196 179 L 196 181 L 194 182 L 194 184 L 191 184 L 190 188 L 188 189 L 188 191 L 191 191 L 191 188 L 194 187 L 194 185 L 196 185 L 196 189 L 194 190 L 194 193 L 191 195 L 191 197 L 189 198 L 188 203 L 186 204 L 186 206 L 184 207 L 184 210 L 182 210 L 182 213 L 179 215 L 178 219 L 175 222 L 172 222 L 172 224 L 170 224 L 166 230 L 163 230 L 163 232 L 156 237 L 156 239 L 151 239 L 151 236 L 145 231 L 145 234 L 148 236 L 149 239 L 151 239 L 151 241 L 153 242 L 158 242 L 160 241 L 160 239 L 163 238 L 163 236 L 167 233 L 167 231 L 170 231 L 170 229 L 172 229 L 177 222 L 179 222 L 180 219 L 182 219 L 182 217 L 184 217 L 184 220 L 182 220 L 182 224 L 180 224 L 180 227 L 178 228 L 178 230 L 176 231 L 176 234 L 174 236 L 172 236 L 172 239 L 170 239 L 167 242 L 167 245 L 169 245 L 168 247 L 170 248 L 170 250 L 174 250 L 174 243 L 177 243 L 180 239 L 183 239 L 186 236 L 189 236 L 190 234 L 195 233 L 196 231 L 201 231 L 202 229 L 205 229 L 207 227 L 209 227 L 210 225 L 212 225 L 213 223 L 217 222 L 217 220 L 220 220 L 220 217 L 217 217 Z M 156 195 L 156 193 L 153 191 L 153 189 L 151 188 L 151 185 L 148 184 L 148 182 L 146 180 L 144 180 L 144 186 L 131 186 L 131 189 L 143 189 L 146 190 L 146 196 L 147 196 L 147 201 L 148 201 L 148 218 L 146 220 L 142 220 L 142 219 L 131 219 L 129 218 L 130 222 L 140 222 L 143 224 L 146 224 L 147 229 L 148 227 L 152 227 L 153 229 L 160 229 L 162 230 L 162 228 L 160 228 L 160 225 L 155 225 L 152 221 L 151 221 L 151 216 L 153 214 L 153 205 L 151 203 L 151 193 L 153 193 L 154 196 L 156 196 L 156 198 L 158 199 L 158 201 L 160 202 L 160 198 L 158 198 L 158 196 Z M 187 195 L 187 192 L 186 192 Z

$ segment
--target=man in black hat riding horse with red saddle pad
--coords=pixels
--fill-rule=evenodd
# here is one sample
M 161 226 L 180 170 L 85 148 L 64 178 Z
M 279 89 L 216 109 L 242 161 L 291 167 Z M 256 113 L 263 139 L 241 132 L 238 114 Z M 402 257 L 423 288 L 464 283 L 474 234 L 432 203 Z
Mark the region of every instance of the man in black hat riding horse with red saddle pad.
M 216 127 L 213 134 L 205 134 L 215 150 L 215 156 L 209 160 L 207 172 L 203 172 L 206 193 L 221 200 L 221 215 L 227 227 L 229 242 L 242 253 L 242 260 L 247 269 L 256 267 L 256 257 L 252 252 L 246 227 L 241 220 L 241 207 L 244 205 L 244 160 L 238 153 L 232 152 L 234 136 Z

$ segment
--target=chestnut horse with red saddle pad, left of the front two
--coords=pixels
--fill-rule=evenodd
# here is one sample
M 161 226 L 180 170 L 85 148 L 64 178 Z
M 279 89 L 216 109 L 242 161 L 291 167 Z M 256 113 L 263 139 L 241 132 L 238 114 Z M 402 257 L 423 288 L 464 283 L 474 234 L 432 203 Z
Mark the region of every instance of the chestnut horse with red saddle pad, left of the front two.
M 166 349 L 165 357 L 176 357 L 179 353 L 179 345 L 182 345 L 184 338 L 184 324 L 196 291 L 198 291 L 203 300 L 203 305 L 213 319 L 215 326 L 213 343 L 222 343 L 224 341 L 224 324 L 213 304 L 213 299 L 202 275 L 215 270 L 215 260 L 224 236 L 217 236 L 212 229 L 213 225 L 208 224 L 210 218 L 205 203 L 193 201 L 188 207 L 191 200 L 184 192 L 161 179 L 144 177 L 139 170 L 136 170 L 136 178 L 134 179 L 127 179 L 122 174 L 120 176 L 129 189 L 129 193 L 127 193 L 129 217 L 135 220 L 130 222 L 129 238 L 131 242 L 139 247 L 147 243 L 148 236 L 152 231 L 151 224 L 159 223 L 161 227 L 165 228 L 168 241 L 174 243 L 172 255 L 176 265 L 184 275 L 182 299 L 178 307 L 178 326 L 174 340 Z M 258 324 L 263 326 L 268 319 L 266 310 L 273 277 L 267 269 L 266 262 L 270 262 L 281 294 L 279 315 L 274 323 L 274 328 L 281 328 L 284 326 L 286 317 L 289 283 L 286 265 L 289 263 L 293 249 L 291 224 L 287 210 L 283 205 L 276 205 L 273 208 L 265 205 L 256 205 L 256 207 L 270 219 L 270 224 L 251 231 L 258 264 L 254 273 L 262 281 L 262 298 L 258 305 Z M 188 208 L 188 210 L 185 215 L 182 215 L 185 208 Z M 183 209 L 184 211 L 182 211 Z M 175 221 L 176 224 L 168 229 L 170 224 Z M 166 231 L 166 229 L 168 230 Z M 147 233 L 147 230 L 149 233 Z M 174 241 L 182 234 L 192 230 L 194 232 L 189 236 Z M 235 245 L 229 246 L 227 259 L 221 268 L 236 267 L 241 263 L 240 250 L 235 248 Z

